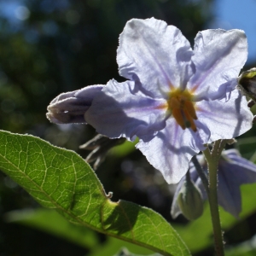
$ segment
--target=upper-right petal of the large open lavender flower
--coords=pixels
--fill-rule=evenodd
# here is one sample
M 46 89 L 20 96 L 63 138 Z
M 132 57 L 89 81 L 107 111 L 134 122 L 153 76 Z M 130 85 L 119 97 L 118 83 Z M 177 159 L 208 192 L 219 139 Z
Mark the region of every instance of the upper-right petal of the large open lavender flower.
M 205 30 L 195 38 L 195 75 L 188 88 L 195 86 L 201 98 L 216 99 L 224 96 L 233 86 L 241 67 L 247 60 L 247 38 L 241 30 Z M 236 84 L 235 84 L 236 85 Z

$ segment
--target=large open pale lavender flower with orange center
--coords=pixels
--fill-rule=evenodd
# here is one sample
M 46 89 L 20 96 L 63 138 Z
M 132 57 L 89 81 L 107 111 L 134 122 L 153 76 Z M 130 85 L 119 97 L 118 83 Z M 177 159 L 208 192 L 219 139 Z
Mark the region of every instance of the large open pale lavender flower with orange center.
M 176 26 L 132 19 L 117 50 L 119 74 L 129 80 L 110 80 L 94 94 L 85 122 L 110 138 L 138 137 L 137 148 L 149 163 L 168 183 L 177 183 L 205 143 L 251 128 L 253 115 L 235 90 L 246 59 L 241 30 L 199 32 L 192 50 Z M 82 112 L 68 121 L 80 120 Z

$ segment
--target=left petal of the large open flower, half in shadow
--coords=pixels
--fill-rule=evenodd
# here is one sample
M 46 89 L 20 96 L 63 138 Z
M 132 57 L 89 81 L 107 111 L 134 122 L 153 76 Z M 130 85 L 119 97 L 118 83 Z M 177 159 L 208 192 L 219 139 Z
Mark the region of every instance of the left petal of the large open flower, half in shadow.
M 88 123 L 108 137 L 147 141 L 166 125 L 165 100 L 145 96 L 132 81 L 111 80 L 85 114 Z

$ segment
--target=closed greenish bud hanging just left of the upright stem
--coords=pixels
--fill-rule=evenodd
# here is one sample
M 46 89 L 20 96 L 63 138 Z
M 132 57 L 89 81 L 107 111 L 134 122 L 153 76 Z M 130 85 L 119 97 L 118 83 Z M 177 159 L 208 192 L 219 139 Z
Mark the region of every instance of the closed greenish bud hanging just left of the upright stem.
M 177 204 L 185 218 L 193 220 L 201 216 L 203 212 L 202 195 L 193 181 L 184 181 L 177 196 Z

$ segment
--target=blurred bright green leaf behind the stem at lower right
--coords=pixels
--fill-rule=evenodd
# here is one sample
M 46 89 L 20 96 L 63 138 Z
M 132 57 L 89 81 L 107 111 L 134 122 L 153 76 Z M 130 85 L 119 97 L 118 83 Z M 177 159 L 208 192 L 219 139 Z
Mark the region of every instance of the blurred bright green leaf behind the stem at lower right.
M 242 212 L 240 219 L 236 219 L 229 212 L 225 212 L 222 207 L 219 207 L 223 230 L 230 230 L 232 226 L 256 211 L 255 189 L 256 183 L 241 185 Z M 212 222 L 208 203 L 206 203 L 201 218 L 184 226 L 173 224 L 173 227 L 186 242 L 191 253 L 199 252 L 213 244 Z

